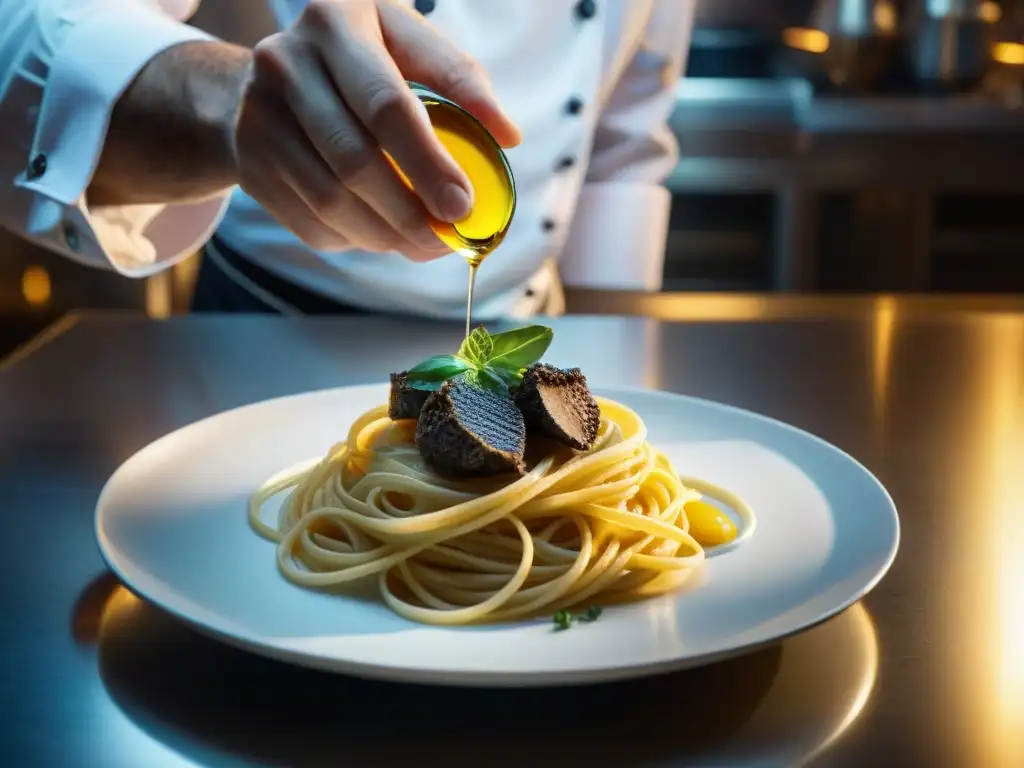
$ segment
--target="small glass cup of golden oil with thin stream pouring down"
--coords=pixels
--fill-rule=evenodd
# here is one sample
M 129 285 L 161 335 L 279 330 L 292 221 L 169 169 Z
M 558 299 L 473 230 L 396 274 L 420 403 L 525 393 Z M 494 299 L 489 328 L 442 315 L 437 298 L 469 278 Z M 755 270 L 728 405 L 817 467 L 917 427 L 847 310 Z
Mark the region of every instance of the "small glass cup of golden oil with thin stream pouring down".
M 434 133 L 473 187 L 473 208 L 468 216 L 455 223 L 434 220 L 430 224 L 438 239 L 469 264 L 466 295 L 466 335 L 469 336 L 476 271 L 505 240 L 512 223 L 515 180 L 502 147 L 476 118 L 424 86 L 416 83 L 410 86 L 426 108 Z M 408 179 L 406 181 L 408 183 Z

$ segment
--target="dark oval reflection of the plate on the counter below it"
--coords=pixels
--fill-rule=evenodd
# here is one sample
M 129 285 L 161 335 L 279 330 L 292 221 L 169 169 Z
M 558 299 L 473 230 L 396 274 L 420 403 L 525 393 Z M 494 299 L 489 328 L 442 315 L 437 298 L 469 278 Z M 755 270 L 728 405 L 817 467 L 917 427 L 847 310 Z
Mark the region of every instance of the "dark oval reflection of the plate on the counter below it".
M 113 577 L 87 588 L 76 613 L 80 642 L 95 630 L 99 674 L 117 706 L 165 746 L 213 766 L 798 765 L 853 723 L 878 668 L 873 625 L 860 605 L 710 667 L 521 690 L 291 667 L 194 632 Z

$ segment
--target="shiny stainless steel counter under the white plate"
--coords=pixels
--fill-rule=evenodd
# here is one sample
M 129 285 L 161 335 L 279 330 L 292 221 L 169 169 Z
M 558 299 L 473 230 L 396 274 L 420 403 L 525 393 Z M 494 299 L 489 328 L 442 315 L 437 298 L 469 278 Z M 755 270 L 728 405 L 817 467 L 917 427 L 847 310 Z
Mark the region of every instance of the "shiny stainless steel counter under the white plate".
M 749 656 L 582 690 L 367 683 L 222 646 L 105 570 L 103 481 L 193 420 L 380 381 L 459 328 L 73 316 L 0 367 L 0 765 L 1020 766 L 1021 302 L 652 301 L 693 322 L 564 318 L 554 361 L 752 409 L 861 460 L 903 534 L 862 603 Z

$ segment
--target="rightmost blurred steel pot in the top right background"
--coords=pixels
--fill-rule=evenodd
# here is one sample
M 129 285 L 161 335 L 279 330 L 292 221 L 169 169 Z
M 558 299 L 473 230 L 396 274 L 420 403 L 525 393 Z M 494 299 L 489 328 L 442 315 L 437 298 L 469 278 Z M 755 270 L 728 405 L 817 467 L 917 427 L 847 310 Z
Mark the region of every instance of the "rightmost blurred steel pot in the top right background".
M 976 88 L 992 68 L 1000 15 L 984 0 L 914 0 L 907 52 L 919 84 L 941 92 Z

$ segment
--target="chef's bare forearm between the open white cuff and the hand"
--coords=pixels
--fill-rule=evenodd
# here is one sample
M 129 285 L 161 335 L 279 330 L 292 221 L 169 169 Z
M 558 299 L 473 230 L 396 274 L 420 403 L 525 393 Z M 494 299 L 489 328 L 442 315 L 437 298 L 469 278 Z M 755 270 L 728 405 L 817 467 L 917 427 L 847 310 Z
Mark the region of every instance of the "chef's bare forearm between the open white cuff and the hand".
M 237 183 L 234 119 L 251 56 L 191 42 L 150 61 L 114 108 L 90 204 L 198 200 Z

